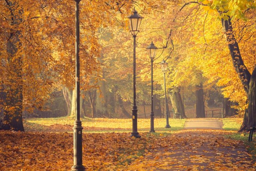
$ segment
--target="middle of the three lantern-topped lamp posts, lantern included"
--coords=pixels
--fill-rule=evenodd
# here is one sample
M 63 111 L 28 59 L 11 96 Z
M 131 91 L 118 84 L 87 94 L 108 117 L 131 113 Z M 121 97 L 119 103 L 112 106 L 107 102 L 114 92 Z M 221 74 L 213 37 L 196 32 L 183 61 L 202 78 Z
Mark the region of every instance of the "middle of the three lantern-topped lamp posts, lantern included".
M 148 56 L 151 59 L 151 112 L 150 112 L 150 132 L 155 132 L 154 130 L 154 111 L 153 111 L 153 60 L 156 57 L 157 47 L 153 42 L 146 48 L 148 51 Z

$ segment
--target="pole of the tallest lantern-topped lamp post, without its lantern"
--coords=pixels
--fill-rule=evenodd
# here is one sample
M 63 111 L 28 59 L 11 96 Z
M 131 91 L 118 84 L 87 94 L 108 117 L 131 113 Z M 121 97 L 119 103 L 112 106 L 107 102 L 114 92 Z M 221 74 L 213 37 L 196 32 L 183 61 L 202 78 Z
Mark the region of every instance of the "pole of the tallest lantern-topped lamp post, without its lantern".
M 133 35 L 133 107 L 131 136 L 140 138 L 138 133 L 138 109 L 136 106 L 136 34 Z

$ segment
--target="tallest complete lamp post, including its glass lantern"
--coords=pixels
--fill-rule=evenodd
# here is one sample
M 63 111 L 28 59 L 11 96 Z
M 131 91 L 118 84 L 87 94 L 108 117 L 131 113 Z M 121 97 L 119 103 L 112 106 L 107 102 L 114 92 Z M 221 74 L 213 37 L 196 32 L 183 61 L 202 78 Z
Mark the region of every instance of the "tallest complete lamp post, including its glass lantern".
M 131 136 L 140 138 L 138 133 L 138 109 L 136 106 L 136 36 L 139 32 L 142 16 L 138 14 L 135 8 L 132 15 L 128 16 L 130 32 L 133 35 L 133 107 L 132 107 L 132 133 Z

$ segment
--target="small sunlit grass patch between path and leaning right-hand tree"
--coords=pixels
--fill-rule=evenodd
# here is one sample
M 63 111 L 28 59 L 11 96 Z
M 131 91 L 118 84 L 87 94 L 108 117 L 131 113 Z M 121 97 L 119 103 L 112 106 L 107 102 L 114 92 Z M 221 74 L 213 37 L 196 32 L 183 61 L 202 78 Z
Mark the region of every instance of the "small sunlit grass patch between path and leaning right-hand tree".
M 222 123 L 224 130 L 238 131 L 243 123 L 243 118 L 223 118 Z

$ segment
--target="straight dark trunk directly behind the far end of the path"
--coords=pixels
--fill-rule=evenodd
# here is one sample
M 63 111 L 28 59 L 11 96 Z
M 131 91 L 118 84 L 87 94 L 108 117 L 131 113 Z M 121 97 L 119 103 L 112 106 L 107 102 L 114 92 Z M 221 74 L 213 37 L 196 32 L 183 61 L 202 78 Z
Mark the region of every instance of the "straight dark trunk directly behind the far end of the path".
M 196 118 L 205 118 L 203 85 L 196 85 Z

